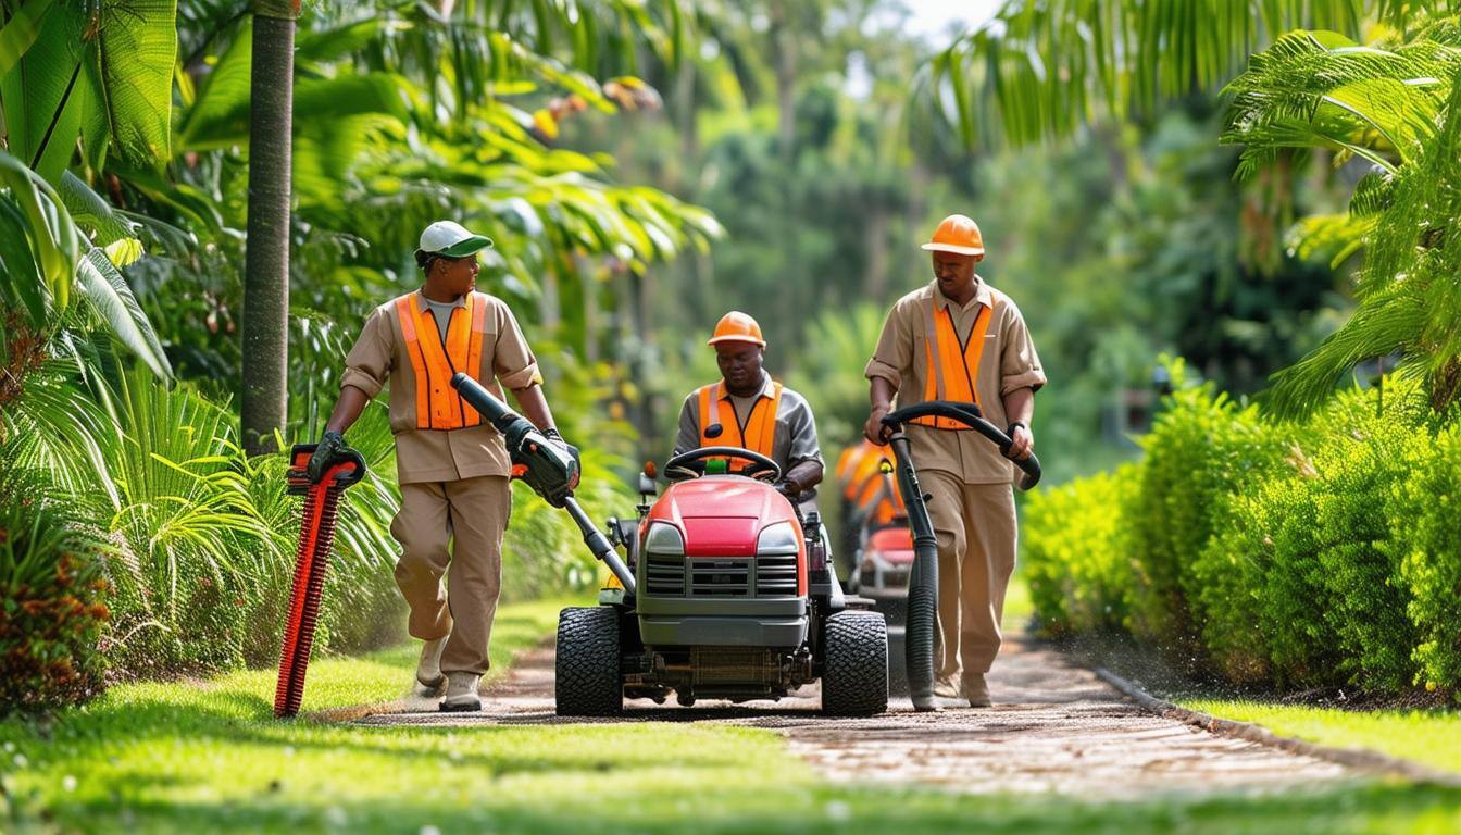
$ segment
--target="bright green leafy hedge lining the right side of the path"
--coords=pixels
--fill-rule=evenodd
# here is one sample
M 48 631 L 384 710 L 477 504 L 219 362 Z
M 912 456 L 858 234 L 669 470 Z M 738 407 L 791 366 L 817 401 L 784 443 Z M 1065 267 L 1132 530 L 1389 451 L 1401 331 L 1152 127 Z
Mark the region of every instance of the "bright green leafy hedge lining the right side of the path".
M 1083 601 L 1125 600 L 1119 626 L 1233 681 L 1461 689 L 1461 428 L 1416 386 L 1343 393 L 1303 424 L 1186 389 L 1143 446 L 1031 497 L 1046 632 L 1113 626 Z

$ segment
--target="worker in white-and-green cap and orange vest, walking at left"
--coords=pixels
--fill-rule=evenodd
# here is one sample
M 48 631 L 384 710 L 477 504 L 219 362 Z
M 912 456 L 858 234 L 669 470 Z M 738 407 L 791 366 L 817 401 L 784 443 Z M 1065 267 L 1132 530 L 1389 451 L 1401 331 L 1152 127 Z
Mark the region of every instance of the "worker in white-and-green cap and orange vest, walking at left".
M 365 319 L 310 461 L 310 475 L 318 478 L 365 404 L 390 385 L 400 480 L 400 512 L 390 525 L 402 547 L 396 585 L 411 605 L 411 635 L 425 641 L 416 681 L 432 695 L 446 686 L 443 711 L 482 706 L 476 690 L 488 668 L 511 507 L 503 436 L 457 395 L 451 374 L 466 371 L 497 398 L 510 389 L 524 417 L 564 443 L 513 311 L 476 291 L 478 253 L 491 246 L 451 221 L 421 233 L 415 256 L 424 284 Z

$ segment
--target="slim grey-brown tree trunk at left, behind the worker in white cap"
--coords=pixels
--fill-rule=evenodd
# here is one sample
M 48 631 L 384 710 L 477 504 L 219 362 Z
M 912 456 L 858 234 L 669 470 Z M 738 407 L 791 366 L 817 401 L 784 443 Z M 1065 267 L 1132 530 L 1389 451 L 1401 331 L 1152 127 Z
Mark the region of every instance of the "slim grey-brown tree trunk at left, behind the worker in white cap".
M 254 7 L 248 111 L 248 243 L 244 256 L 243 443 L 276 452 L 289 404 L 289 159 L 294 107 L 291 3 Z M 292 9 L 297 12 L 297 9 Z

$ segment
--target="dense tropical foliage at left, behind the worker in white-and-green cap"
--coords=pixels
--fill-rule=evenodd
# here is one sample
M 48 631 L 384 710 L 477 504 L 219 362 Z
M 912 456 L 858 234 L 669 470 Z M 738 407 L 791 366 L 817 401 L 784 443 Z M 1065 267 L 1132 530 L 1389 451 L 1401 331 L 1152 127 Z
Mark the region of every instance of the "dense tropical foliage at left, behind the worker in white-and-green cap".
M 595 407 L 617 371 L 593 361 L 581 311 L 612 304 L 614 275 L 720 230 L 615 181 L 608 155 L 557 148 L 557 123 L 652 104 L 628 73 L 640 50 L 675 66 L 688 31 L 678 3 L 327 3 L 300 26 L 286 230 L 298 385 L 279 442 L 314 436 L 361 317 L 418 281 L 415 235 L 451 216 L 495 238 L 484 290 L 514 306 L 546 355 L 568 436 L 608 443 L 587 462 L 609 484 L 624 430 Z M 73 569 L 57 566 L 86 562 L 108 578 L 102 654 L 77 658 L 77 680 L 94 681 L 98 660 L 159 674 L 276 651 L 295 500 L 282 461 L 240 449 L 232 407 L 248 361 L 237 329 L 251 47 L 247 9 L 205 0 L 26 0 L 0 15 L 0 455 L 54 496 L 25 516 L 39 519 L 37 544 L 10 540 L 31 548 L 26 566 L 64 579 Z M 383 408 L 351 443 L 373 477 L 348 494 L 336 540 L 320 641 L 337 649 L 397 635 Z M 592 582 L 567 521 L 526 493 L 517 503 L 507 570 L 523 570 L 508 595 Z M 72 544 L 85 531 L 107 547 Z M 7 585 L 6 605 L 35 608 L 25 595 L 41 589 Z

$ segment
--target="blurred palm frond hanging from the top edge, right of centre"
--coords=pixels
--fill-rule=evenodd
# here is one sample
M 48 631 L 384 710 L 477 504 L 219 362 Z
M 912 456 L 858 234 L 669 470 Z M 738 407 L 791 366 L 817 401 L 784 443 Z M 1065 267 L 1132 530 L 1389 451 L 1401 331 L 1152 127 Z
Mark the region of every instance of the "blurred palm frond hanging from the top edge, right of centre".
M 1357 34 L 1362 0 L 1010 0 L 931 63 L 926 97 L 969 146 L 1069 136 L 1216 91 L 1294 28 Z

